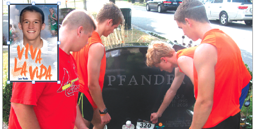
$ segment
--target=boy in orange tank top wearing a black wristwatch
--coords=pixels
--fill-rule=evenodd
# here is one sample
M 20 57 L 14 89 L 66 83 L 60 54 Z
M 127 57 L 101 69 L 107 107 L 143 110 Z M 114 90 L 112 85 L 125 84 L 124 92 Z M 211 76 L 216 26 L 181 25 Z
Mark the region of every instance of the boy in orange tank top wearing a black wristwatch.
M 111 120 L 102 98 L 102 88 L 106 68 L 105 47 L 100 37 L 113 33 L 123 23 L 121 10 L 113 3 L 103 5 L 97 14 L 97 29 L 81 51 L 74 52 L 79 76 L 78 104 L 87 127 L 103 129 Z

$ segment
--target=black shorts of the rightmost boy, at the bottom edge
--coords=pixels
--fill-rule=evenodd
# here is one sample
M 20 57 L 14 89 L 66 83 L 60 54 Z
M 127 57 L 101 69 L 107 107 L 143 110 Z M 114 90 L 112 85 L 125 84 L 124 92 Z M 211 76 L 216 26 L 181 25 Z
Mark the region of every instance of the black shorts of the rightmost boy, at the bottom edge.
M 235 116 L 230 116 L 216 126 L 206 129 L 240 129 L 240 118 L 241 115 L 240 112 L 238 112 Z

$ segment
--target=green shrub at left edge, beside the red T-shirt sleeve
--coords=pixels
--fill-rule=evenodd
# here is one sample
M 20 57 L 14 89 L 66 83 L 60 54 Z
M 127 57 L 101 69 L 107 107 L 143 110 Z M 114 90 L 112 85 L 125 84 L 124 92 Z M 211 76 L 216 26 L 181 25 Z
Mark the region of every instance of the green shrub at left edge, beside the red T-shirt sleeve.
M 8 80 L 8 78 L 6 78 Z M 3 122 L 9 124 L 10 116 L 10 98 L 12 97 L 13 83 L 8 84 L 6 81 L 3 82 Z

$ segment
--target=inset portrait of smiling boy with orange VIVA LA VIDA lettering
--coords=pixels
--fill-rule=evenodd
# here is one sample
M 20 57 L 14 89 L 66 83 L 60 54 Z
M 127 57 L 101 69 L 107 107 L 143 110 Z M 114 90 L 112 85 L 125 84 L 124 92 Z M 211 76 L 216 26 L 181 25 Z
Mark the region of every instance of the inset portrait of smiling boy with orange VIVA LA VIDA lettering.
M 58 80 L 58 5 L 9 5 L 9 81 Z

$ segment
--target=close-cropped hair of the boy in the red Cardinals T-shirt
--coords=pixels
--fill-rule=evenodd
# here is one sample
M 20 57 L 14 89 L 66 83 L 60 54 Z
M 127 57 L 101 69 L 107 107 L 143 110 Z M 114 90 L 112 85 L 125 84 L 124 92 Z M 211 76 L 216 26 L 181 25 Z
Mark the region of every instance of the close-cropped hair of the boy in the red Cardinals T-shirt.
M 92 29 L 96 29 L 93 16 L 86 10 L 80 9 L 76 9 L 68 13 L 61 26 L 65 25 L 67 25 L 69 30 L 77 29 L 79 26 L 83 26 L 87 33 Z

